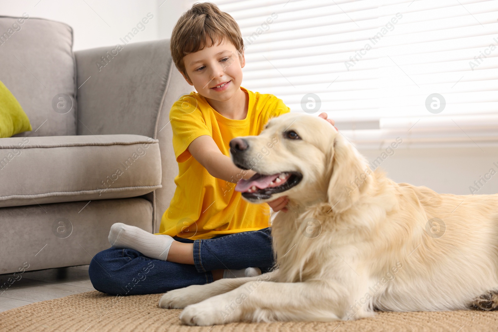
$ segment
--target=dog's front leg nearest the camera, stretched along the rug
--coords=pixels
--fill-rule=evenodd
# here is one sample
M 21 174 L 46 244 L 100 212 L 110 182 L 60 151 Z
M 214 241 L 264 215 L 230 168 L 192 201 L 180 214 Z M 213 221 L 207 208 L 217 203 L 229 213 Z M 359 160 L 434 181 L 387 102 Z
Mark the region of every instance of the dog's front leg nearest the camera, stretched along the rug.
M 240 321 L 328 322 L 343 319 L 347 299 L 346 288 L 330 280 L 280 283 L 260 279 L 185 307 L 180 320 L 200 326 Z

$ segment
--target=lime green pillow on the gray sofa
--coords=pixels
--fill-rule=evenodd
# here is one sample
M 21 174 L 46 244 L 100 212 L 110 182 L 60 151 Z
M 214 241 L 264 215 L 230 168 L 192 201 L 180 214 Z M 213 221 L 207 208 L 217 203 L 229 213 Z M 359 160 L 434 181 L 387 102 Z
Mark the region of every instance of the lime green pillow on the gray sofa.
M 0 138 L 33 130 L 28 116 L 14 95 L 0 81 Z

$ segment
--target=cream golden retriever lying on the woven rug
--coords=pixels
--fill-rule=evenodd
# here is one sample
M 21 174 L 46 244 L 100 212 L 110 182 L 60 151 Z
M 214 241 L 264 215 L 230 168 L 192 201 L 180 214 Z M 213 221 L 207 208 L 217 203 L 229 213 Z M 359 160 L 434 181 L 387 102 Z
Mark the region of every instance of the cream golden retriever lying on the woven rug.
M 159 307 L 184 308 L 182 323 L 496 308 L 498 195 L 395 183 L 309 114 L 282 114 L 230 145 L 233 162 L 258 173 L 236 186 L 245 200 L 289 198 L 272 215 L 276 269 L 165 293 Z

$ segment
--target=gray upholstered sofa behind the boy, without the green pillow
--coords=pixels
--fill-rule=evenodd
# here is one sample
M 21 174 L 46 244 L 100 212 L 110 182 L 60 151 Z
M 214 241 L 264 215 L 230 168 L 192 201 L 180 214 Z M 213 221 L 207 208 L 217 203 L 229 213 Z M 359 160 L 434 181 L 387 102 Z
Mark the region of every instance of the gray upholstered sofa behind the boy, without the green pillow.
M 0 274 L 89 264 L 115 222 L 158 232 L 174 194 L 169 110 L 193 89 L 169 40 L 72 44 L 67 24 L 0 16 L 0 80 L 33 127 L 0 138 Z

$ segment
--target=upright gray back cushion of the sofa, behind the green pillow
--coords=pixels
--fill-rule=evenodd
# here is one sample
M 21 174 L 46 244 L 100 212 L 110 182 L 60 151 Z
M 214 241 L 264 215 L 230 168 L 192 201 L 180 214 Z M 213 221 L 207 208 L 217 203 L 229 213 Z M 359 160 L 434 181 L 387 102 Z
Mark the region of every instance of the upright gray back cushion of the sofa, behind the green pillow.
M 31 121 L 21 136 L 76 135 L 73 30 L 65 23 L 0 16 L 0 80 Z

